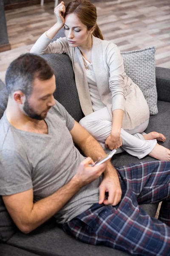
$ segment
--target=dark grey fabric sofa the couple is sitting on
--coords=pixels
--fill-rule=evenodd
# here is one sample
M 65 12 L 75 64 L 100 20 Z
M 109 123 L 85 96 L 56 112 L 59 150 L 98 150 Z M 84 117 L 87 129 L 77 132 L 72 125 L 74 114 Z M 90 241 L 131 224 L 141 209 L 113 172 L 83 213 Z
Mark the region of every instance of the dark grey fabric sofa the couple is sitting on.
M 79 104 L 74 72 L 68 55 L 44 55 L 54 68 L 56 76 L 57 99 L 79 121 L 83 113 Z M 0 87 L 4 87 L 0 83 Z M 164 145 L 170 148 L 170 69 L 156 67 L 156 86 L 158 92 L 158 109 L 156 116 L 150 116 L 147 132 L 160 131 L 167 138 Z M 6 88 L 0 91 L 0 118 L 6 108 L 8 94 Z M 162 143 L 160 143 L 162 144 Z M 152 161 L 153 158 L 145 157 L 140 160 Z M 116 154 L 112 163 L 122 166 L 127 163 L 139 162 L 136 157 L 126 153 Z M 152 216 L 155 215 L 157 204 L 142 205 Z M 51 218 L 48 222 L 38 227 L 29 234 L 21 233 L 12 222 L 0 197 L 0 256 L 127 256 L 126 252 L 113 250 L 104 246 L 93 246 L 77 241 L 64 233 L 62 228 Z

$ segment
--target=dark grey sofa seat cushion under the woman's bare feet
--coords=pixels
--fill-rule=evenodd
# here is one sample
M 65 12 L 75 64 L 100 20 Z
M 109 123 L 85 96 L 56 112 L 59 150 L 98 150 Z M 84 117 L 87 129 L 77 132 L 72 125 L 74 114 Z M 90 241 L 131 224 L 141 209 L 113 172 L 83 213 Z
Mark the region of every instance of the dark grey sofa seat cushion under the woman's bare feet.
M 170 102 L 158 101 L 157 104 L 159 112 L 155 116 L 150 116 L 149 125 L 145 132 L 149 133 L 151 131 L 158 131 L 164 134 L 164 136 L 166 137 L 165 142 L 158 143 L 170 149 Z M 112 163 L 114 166 L 124 166 L 129 163 L 146 162 L 153 160 L 155 159 L 149 156 L 146 156 L 139 160 L 137 157 L 133 157 L 126 152 L 115 154 L 112 157 Z

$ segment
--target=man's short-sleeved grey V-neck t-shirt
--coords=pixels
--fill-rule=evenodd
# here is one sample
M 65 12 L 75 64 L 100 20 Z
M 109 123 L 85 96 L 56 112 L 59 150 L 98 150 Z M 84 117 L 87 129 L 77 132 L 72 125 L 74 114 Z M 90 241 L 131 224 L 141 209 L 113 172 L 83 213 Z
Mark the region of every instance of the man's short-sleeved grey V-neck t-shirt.
M 48 134 L 14 128 L 4 113 L 0 120 L 0 195 L 12 195 L 33 188 L 34 202 L 56 192 L 76 174 L 84 157 L 74 146 L 70 131 L 74 119 L 56 102 L 45 122 Z M 84 186 L 55 215 L 65 223 L 99 200 L 98 178 Z

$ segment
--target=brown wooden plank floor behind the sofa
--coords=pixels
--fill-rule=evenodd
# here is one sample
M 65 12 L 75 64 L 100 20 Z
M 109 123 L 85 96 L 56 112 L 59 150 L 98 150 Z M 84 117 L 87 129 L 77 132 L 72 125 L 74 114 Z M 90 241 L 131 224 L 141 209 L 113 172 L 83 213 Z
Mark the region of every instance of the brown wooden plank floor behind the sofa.
M 106 40 L 121 51 L 156 47 L 156 65 L 170 68 L 170 0 L 91 0 Z M 69 1 L 67 0 L 66 3 Z M 9 63 L 28 52 L 37 38 L 56 22 L 54 1 L 6 11 L 11 50 L 0 53 L 0 79 Z

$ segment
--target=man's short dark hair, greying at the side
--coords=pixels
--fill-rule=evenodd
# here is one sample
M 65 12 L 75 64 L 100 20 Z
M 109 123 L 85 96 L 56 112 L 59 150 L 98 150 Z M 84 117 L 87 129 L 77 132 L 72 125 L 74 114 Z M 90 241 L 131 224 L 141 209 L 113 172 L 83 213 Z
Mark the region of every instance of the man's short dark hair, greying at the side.
M 44 58 L 31 53 L 20 55 L 6 71 L 8 94 L 20 90 L 28 97 L 31 95 L 34 79 L 45 81 L 53 75 L 52 67 Z

